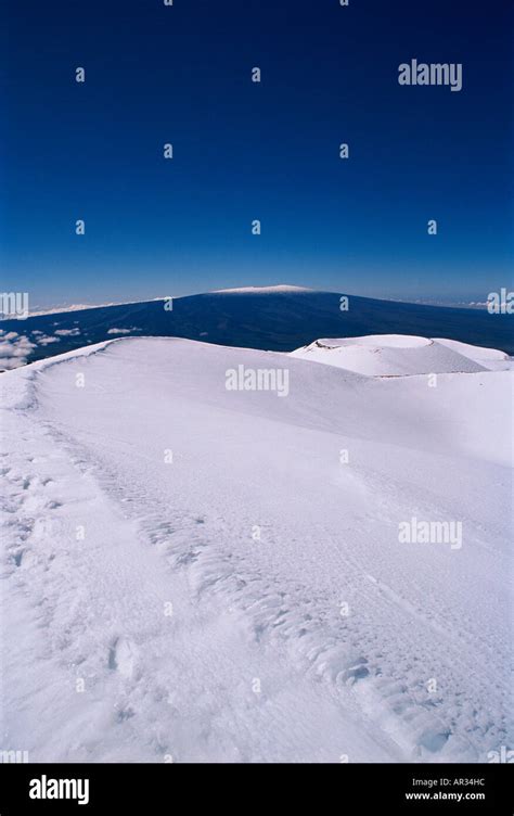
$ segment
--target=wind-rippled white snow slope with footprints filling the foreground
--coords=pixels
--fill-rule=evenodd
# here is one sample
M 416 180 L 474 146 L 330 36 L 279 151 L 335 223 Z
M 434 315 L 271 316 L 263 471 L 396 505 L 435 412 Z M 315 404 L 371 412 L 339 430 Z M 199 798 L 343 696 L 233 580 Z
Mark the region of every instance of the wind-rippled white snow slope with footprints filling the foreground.
M 412 355 L 382 379 L 121 339 L 4 373 L 1 748 L 337 763 L 512 745 L 512 381 L 466 359 L 434 385 Z M 287 393 L 227 390 L 240 366 L 286 369 Z M 461 523 L 460 544 L 400 541 L 412 520 Z

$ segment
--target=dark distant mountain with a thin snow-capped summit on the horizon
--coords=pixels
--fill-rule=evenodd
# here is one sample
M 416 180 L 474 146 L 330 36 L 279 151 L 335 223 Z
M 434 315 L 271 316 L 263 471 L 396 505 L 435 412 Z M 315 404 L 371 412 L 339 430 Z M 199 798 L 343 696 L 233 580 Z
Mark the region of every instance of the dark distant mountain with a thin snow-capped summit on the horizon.
M 342 297 L 340 293 L 298 286 L 246 288 L 177 297 L 171 310 L 165 309 L 165 301 L 154 299 L 3 320 L 0 368 L 124 335 L 177 336 L 292 352 L 318 337 L 414 334 L 514 354 L 509 315 L 356 295 L 348 296 L 348 310 L 342 310 Z M 12 348 L 17 352 L 9 365 Z

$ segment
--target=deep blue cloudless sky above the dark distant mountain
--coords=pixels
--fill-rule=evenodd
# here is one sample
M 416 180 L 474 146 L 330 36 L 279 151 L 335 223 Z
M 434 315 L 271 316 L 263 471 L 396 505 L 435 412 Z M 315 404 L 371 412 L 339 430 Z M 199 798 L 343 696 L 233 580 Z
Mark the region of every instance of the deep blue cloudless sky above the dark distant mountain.
M 3 2 L 2 291 L 34 306 L 279 282 L 434 299 L 511 286 L 509 5 Z M 400 87 L 413 58 L 463 63 L 463 90 Z

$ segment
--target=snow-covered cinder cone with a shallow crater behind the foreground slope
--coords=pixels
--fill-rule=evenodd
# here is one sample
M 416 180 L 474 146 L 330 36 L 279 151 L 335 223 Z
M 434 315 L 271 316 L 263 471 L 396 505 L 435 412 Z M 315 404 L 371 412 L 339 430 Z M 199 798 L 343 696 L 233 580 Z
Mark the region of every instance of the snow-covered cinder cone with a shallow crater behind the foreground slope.
M 371 377 L 398 377 L 509 369 L 503 352 L 451 340 L 427 340 L 408 334 L 375 334 L 364 337 L 317 340 L 292 352 L 316 362 L 325 362 Z

